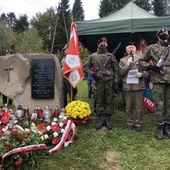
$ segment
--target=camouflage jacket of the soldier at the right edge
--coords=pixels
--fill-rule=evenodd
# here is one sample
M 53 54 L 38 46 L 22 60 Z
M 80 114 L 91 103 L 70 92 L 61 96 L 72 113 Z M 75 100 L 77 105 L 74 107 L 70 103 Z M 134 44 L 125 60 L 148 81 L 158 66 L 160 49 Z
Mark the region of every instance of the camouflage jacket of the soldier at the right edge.
M 164 49 L 168 46 L 168 42 L 158 41 L 156 44 L 152 44 L 148 46 L 146 49 L 143 58 L 149 62 L 151 61 L 151 65 L 155 66 L 160 56 L 162 55 Z M 170 62 L 170 52 L 166 56 L 165 62 Z M 147 67 L 149 63 L 145 65 Z M 170 65 L 162 66 L 161 72 L 157 73 L 155 71 L 151 71 L 150 79 L 153 83 L 170 83 Z

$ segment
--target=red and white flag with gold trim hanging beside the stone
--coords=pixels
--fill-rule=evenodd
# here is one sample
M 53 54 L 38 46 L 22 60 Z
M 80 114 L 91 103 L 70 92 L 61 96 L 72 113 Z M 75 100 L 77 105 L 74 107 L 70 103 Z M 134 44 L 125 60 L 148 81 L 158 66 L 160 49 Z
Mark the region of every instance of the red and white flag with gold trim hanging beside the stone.
M 79 57 L 77 25 L 74 22 L 71 24 L 70 41 L 63 65 L 63 75 L 73 88 L 75 88 L 84 78 L 82 63 Z

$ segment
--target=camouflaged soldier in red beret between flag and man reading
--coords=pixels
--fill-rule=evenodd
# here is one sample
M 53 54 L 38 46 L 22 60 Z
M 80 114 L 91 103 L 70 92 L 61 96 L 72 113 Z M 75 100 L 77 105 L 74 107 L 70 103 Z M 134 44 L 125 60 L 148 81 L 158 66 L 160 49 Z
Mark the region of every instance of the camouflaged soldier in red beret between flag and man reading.
M 101 38 L 97 45 L 97 52 L 88 57 L 84 65 L 84 71 L 88 75 L 92 75 L 96 82 L 94 99 L 96 105 L 95 111 L 98 116 L 96 129 L 101 129 L 104 125 L 108 129 L 112 129 L 110 117 L 113 114 L 113 88 L 114 84 L 118 82 L 118 63 L 115 56 L 107 51 L 108 44 L 105 37 Z M 107 64 L 105 65 L 105 63 Z M 93 71 L 91 67 L 94 68 Z M 105 120 L 103 120 L 103 117 Z

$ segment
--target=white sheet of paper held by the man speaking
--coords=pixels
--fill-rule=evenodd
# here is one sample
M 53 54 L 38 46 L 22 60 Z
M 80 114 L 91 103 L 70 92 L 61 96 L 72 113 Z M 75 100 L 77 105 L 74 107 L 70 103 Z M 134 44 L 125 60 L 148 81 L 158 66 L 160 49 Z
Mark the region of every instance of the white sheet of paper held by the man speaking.
M 139 83 L 139 78 L 135 77 L 136 73 L 138 73 L 138 69 L 129 70 L 127 80 L 126 80 L 127 84 L 138 84 Z

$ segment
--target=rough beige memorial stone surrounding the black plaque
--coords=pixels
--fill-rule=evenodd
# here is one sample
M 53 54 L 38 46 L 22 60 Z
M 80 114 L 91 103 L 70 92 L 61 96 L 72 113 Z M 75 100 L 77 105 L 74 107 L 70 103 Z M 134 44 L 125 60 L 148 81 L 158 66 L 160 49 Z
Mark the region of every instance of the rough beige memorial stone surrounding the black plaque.
M 32 59 L 54 58 L 54 98 L 53 99 L 32 99 L 31 98 L 31 61 Z M 10 64 L 12 68 L 7 74 L 5 68 Z M 48 105 L 52 110 L 56 106 L 62 107 L 62 72 L 58 58 L 52 54 L 13 54 L 0 57 L 0 92 L 14 101 L 15 107 L 22 105 L 29 107 L 33 112 L 36 106 L 42 109 Z M 9 75 L 9 79 L 8 79 Z

